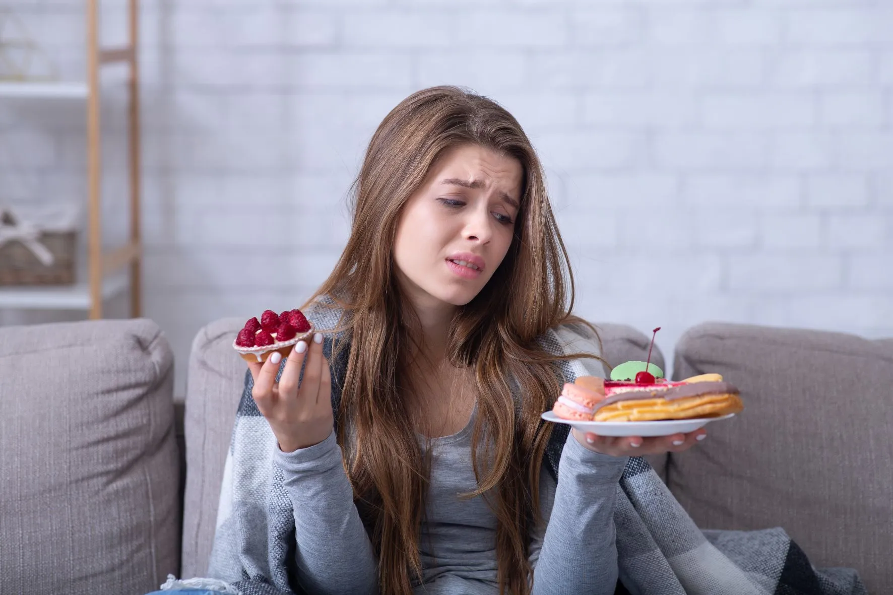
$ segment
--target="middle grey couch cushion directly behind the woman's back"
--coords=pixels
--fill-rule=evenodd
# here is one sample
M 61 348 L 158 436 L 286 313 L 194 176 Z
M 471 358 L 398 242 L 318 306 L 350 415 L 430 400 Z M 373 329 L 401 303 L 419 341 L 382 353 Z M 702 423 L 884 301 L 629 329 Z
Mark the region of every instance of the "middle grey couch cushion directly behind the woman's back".
M 204 576 L 211 556 L 223 465 L 247 370 L 232 348 L 245 323 L 224 318 L 196 335 L 189 356 L 186 394 L 186 496 L 183 502 L 183 576 Z M 598 324 L 605 359 L 614 366 L 645 359 L 650 338 L 623 324 Z M 663 368 L 655 346 L 652 361 Z M 647 457 L 663 476 L 665 457 Z

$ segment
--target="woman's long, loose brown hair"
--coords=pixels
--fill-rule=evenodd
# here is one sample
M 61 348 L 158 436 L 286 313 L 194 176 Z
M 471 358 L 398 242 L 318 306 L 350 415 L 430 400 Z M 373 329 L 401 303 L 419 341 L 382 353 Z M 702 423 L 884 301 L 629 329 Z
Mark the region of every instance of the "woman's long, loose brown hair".
M 501 593 L 530 591 L 530 531 L 542 522 L 539 472 L 552 430 L 540 414 L 553 406 L 563 381 L 555 362 L 592 357 L 551 356 L 536 341 L 563 323 L 596 330 L 570 314 L 567 251 L 521 125 L 502 106 L 462 88 L 426 88 L 405 98 L 371 138 L 352 187 L 350 238 L 305 304 L 329 296 L 344 309 L 338 331 L 347 340 L 339 346 L 349 343 L 350 350 L 336 412 L 338 443 L 379 556 L 385 595 L 409 595 L 413 580 L 421 580 L 418 540 L 429 473 L 401 398 L 418 320 L 396 284 L 391 249 L 401 210 L 431 164 L 464 144 L 511 156 L 523 171 L 512 244 L 487 285 L 457 308 L 447 344 L 450 364 L 473 371 L 472 462 L 479 487 L 467 496 L 482 495 L 497 515 Z M 513 398 L 513 384 L 522 399 Z

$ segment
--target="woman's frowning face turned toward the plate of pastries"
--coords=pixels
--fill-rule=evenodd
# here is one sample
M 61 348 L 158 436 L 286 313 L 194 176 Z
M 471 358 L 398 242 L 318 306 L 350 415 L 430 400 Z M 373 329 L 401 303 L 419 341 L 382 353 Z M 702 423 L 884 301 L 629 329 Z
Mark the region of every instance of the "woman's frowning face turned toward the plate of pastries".
M 404 205 L 393 253 L 416 306 L 463 306 L 487 284 L 512 244 L 522 173 L 517 159 L 477 145 L 431 165 Z

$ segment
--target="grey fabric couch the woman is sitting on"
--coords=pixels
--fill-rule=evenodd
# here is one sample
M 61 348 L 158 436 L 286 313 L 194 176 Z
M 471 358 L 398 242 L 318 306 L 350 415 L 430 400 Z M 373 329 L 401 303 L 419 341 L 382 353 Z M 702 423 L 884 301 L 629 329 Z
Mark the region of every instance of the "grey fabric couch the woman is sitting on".
M 0 328 L 0 593 L 138 595 L 169 573 L 204 575 L 241 322 L 197 334 L 185 403 L 150 320 Z M 612 365 L 644 359 L 647 336 L 600 326 Z M 677 378 L 722 373 L 746 406 L 688 452 L 651 457 L 697 524 L 780 525 L 815 566 L 855 567 L 888 591 L 893 339 L 709 323 L 676 353 Z

